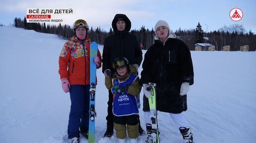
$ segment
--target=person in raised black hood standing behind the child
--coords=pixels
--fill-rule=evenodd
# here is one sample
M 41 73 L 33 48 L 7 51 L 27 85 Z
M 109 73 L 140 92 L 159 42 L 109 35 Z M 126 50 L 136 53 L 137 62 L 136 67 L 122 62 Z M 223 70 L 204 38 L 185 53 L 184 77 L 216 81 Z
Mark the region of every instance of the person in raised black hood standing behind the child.
M 137 71 L 142 61 L 142 51 L 139 47 L 137 37 L 129 34 L 131 28 L 130 20 L 125 14 L 116 14 L 112 21 L 112 28 L 114 30 L 114 35 L 108 36 L 104 42 L 102 72 L 106 77 L 113 75 L 115 71 L 112 69 L 111 63 L 117 57 L 127 58 L 131 68 L 134 68 Z M 113 94 L 111 90 L 109 90 L 108 115 L 106 117 L 107 130 L 104 137 L 111 137 L 113 134 L 114 115 L 112 112 L 112 103 Z M 139 133 L 142 134 L 143 132 L 144 131 L 139 124 Z

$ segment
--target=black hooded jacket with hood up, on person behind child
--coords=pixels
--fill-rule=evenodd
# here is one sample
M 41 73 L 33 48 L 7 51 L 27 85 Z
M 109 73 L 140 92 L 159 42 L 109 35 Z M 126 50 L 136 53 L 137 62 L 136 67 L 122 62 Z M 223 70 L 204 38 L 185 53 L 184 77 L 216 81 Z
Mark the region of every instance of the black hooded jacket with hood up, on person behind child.
M 117 21 L 123 20 L 126 23 L 124 31 L 117 30 Z M 102 72 L 110 69 L 112 72 L 111 63 L 118 57 L 126 57 L 129 64 L 140 65 L 142 61 L 142 51 L 139 47 L 137 37 L 129 34 L 131 23 L 125 14 L 116 14 L 112 21 L 112 28 L 114 35 L 108 36 L 104 41 L 103 54 L 102 54 Z

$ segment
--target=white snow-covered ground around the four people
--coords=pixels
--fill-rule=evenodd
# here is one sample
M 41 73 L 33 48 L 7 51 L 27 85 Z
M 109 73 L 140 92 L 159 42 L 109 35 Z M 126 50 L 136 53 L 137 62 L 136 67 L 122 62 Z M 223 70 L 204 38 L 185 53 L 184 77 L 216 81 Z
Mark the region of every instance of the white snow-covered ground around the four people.
M 70 99 L 58 73 L 64 42 L 56 35 L 0 27 L 0 143 L 67 142 Z M 102 53 L 103 46 L 99 49 Z M 256 143 L 256 52 L 191 53 L 194 84 L 185 115 L 194 141 Z M 97 77 L 96 143 L 117 143 L 115 135 L 103 138 L 108 91 L 101 69 Z M 145 129 L 142 108 L 139 114 Z M 158 115 L 161 143 L 183 143 L 169 115 Z M 145 138 L 139 136 L 138 143 Z M 87 140 L 81 138 L 81 143 Z

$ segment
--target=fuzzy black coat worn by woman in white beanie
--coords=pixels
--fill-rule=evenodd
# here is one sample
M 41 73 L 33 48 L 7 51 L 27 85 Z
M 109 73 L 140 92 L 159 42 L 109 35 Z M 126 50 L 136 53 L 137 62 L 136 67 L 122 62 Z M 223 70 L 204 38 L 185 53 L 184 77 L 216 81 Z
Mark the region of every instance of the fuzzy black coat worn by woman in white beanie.
M 188 46 L 180 39 L 168 38 L 155 43 L 145 53 L 140 84 L 157 84 L 157 110 L 181 113 L 187 110 L 187 95 L 181 96 L 183 82 L 193 84 L 193 65 Z M 148 98 L 143 96 L 143 111 L 149 111 Z

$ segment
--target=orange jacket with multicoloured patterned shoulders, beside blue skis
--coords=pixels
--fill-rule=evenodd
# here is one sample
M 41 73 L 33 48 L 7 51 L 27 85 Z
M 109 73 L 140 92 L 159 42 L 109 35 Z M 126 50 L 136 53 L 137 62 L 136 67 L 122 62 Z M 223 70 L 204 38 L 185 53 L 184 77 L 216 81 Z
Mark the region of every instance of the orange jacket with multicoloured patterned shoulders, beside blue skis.
M 68 78 L 70 85 L 90 84 L 90 44 L 91 40 L 86 36 L 81 41 L 76 36 L 65 42 L 61 55 L 59 57 L 59 73 L 62 78 Z M 98 50 L 100 64 L 97 69 L 101 68 L 102 58 Z

